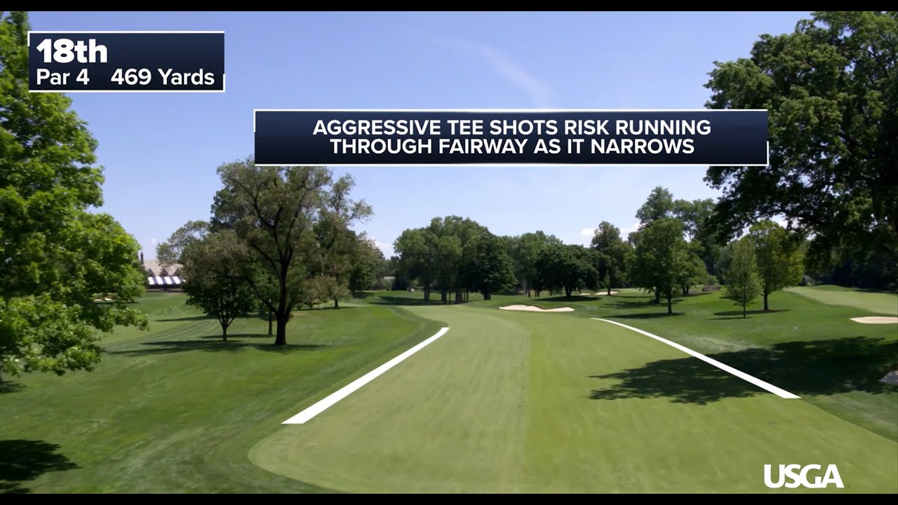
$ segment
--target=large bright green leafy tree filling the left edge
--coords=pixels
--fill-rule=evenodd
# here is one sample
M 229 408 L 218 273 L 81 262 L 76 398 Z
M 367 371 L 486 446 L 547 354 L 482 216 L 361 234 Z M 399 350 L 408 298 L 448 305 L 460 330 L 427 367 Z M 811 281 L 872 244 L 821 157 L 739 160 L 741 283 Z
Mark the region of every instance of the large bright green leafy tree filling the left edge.
M 99 332 L 146 327 L 136 240 L 102 205 L 97 141 L 61 93 L 28 92 L 28 15 L 0 13 L 0 385 L 101 360 Z M 94 300 L 102 301 L 94 301 Z

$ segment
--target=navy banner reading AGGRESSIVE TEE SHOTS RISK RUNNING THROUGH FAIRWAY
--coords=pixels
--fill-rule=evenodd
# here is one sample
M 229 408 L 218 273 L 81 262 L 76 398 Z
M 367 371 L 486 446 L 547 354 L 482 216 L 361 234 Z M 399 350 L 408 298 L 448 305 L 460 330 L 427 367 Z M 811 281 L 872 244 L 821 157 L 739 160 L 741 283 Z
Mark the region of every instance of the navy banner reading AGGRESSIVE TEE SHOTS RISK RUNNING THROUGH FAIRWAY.
M 256 164 L 767 164 L 767 111 L 255 111 Z

